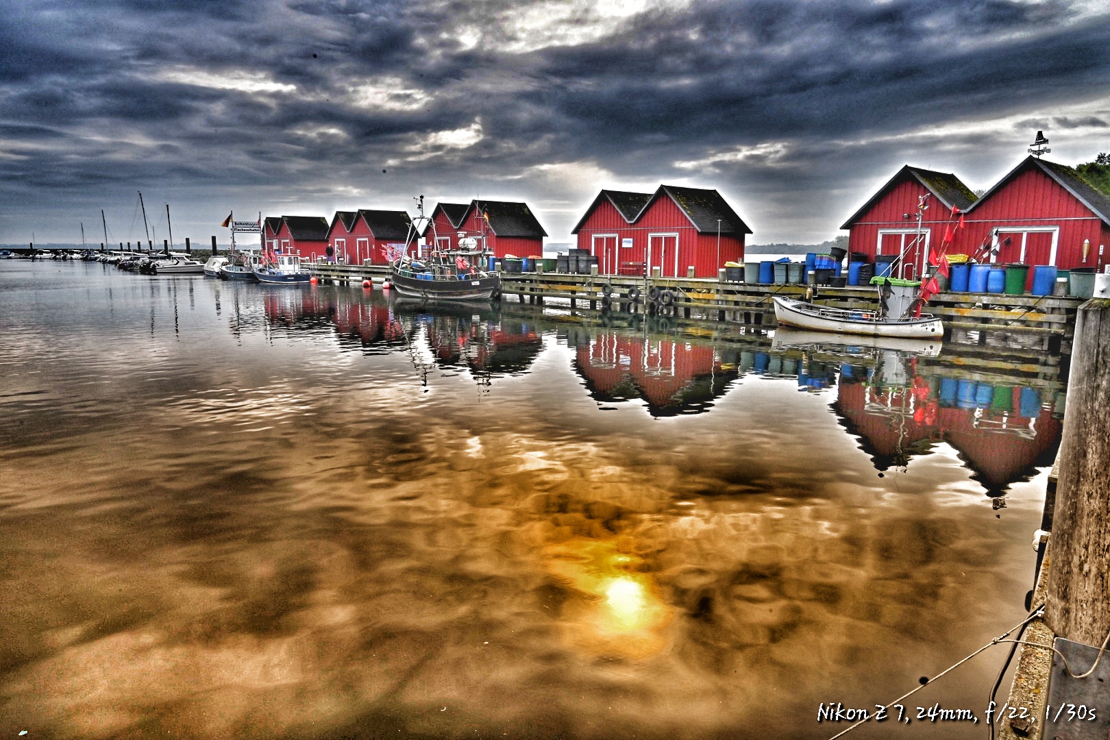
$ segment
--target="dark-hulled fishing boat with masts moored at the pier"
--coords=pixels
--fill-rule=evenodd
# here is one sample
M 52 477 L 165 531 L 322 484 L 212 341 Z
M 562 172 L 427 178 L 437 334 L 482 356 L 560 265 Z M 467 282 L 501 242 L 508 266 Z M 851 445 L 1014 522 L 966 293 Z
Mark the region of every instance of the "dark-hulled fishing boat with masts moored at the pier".
M 403 250 L 391 254 L 390 283 L 402 297 L 421 301 L 490 301 L 501 297 L 501 275 L 482 270 L 488 253 L 485 240 L 460 232 L 458 246 L 443 249 L 436 239 L 435 223 L 424 215 L 424 196 L 416 199 L 418 215 L 408 227 Z M 412 257 L 410 247 L 428 226 L 432 229 L 431 252 L 422 259 Z

